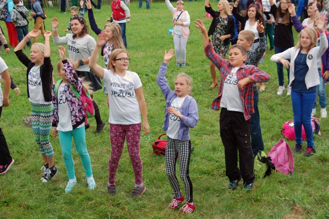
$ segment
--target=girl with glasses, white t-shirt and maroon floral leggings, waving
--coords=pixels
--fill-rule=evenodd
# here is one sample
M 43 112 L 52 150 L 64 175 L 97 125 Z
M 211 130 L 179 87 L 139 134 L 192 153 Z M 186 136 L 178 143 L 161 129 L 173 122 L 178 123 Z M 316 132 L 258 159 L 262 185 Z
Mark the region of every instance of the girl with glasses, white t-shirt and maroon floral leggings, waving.
M 97 64 L 98 53 L 107 41 L 106 34 L 101 32 L 89 62 L 90 68 L 104 81 L 109 94 L 111 156 L 108 162 L 107 192 L 110 195 L 117 194 L 115 175 L 127 139 L 128 153 L 135 173 L 135 187 L 130 195 L 134 198 L 141 196 L 146 190 L 142 180 L 143 165 L 139 154 L 141 113 L 144 133 L 147 135 L 150 132 L 146 102 L 139 76 L 136 72 L 128 70 L 130 58 L 126 50 L 112 51 L 108 69 Z

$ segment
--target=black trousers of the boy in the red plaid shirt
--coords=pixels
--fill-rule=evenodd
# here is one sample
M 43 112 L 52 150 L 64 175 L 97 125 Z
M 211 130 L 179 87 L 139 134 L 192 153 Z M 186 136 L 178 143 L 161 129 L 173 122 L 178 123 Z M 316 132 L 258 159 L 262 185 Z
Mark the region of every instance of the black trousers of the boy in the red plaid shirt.
M 251 184 L 255 174 L 250 143 L 250 120 L 245 121 L 243 113 L 222 108 L 219 127 L 225 149 L 226 176 L 230 181 L 242 176 L 244 184 Z M 240 169 L 237 166 L 238 161 Z

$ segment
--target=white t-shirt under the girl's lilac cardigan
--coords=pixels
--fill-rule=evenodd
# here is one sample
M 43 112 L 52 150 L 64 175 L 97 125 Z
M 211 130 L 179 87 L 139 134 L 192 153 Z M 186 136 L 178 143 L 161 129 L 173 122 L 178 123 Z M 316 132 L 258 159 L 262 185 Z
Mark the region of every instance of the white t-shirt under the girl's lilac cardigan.
M 170 106 L 174 107 L 178 113 L 181 113 L 182 105 L 186 97 L 187 96 L 176 97 Z M 180 123 L 181 120 L 177 116 L 175 116 L 174 114 L 169 115 L 169 126 L 167 130 L 168 137 L 171 137 L 173 139 L 178 139 L 178 131 L 179 131 Z

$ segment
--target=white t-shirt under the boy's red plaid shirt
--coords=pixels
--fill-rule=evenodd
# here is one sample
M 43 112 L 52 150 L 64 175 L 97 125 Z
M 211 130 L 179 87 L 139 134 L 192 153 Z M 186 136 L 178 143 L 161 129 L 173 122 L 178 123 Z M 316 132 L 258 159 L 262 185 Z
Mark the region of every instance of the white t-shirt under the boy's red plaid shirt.
M 243 101 L 237 87 L 236 71 L 238 69 L 240 69 L 240 67 L 232 68 L 232 71 L 225 79 L 221 107 L 227 108 L 228 111 L 243 113 Z

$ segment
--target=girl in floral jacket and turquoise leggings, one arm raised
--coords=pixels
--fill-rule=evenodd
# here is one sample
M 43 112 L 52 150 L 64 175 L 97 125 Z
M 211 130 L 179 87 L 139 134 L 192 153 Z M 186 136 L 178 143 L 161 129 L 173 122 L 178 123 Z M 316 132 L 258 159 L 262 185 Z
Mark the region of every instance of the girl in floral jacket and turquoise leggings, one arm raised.
M 71 90 L 71 87 L 73 87 L 73 89 L 81 93 L 84 82 L 78 78 L 74 72 L 72 61 L 66 59 L 65 48 L 62 46 L 58 48 L 61 61 L 57 63 L 57 72 L 62 77 L 62 80 L 58 87 L 56 86 L 58 82 L 54 83 L 52 86 L 52 99 L 54 104 L 52 133 L 54 137 L 57 135 L 59 136 L 63 160 L 69 178 L 65 193 L 71 192 L 76 184 L 72 157 L 72 137 L 81 163 L 85 168 L 88 188 L 89 190 L 94 190 L 96 183 L 93 177 L 92 164 L 86 144 L 86 114 L 83 103 L 74 95 L 74 91 Z

